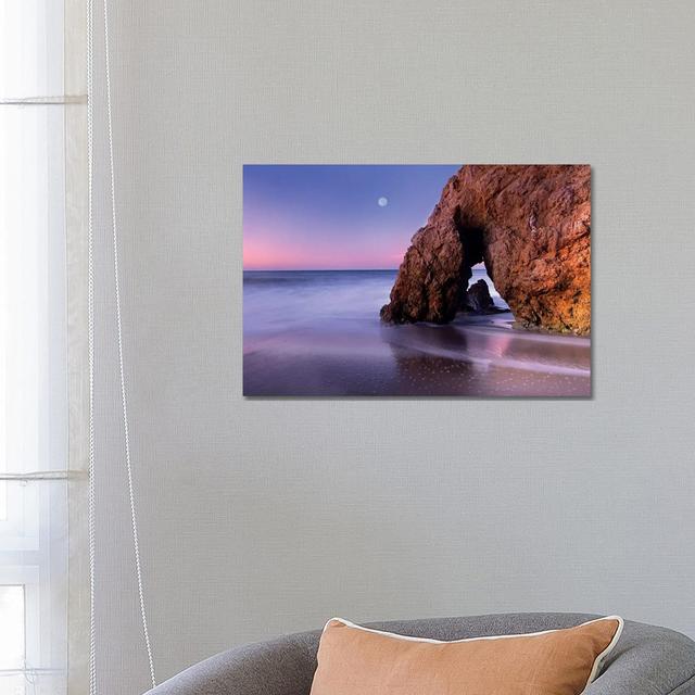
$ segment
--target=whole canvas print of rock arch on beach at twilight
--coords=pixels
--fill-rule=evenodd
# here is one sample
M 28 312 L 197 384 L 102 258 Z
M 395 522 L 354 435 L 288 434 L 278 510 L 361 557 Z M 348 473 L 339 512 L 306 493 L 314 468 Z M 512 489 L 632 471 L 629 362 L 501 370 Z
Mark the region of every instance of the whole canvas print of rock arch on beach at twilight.
M 243 392 L 590 396 L 590 166 L 244 166 Z

